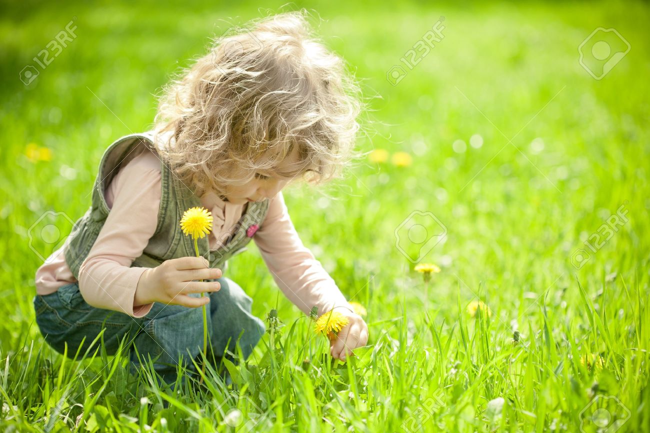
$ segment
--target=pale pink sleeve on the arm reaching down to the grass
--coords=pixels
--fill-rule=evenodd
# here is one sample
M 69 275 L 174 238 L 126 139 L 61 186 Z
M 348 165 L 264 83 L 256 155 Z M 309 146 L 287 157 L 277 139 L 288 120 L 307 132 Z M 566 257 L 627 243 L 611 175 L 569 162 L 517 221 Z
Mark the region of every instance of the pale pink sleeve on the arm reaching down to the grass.
M 314 306 L 318 315 L 337 306 L 352 309 L 330 274 L 300 240 L 281 192 L 270 200 L 253 241 L 278 287 L 305 314 Z

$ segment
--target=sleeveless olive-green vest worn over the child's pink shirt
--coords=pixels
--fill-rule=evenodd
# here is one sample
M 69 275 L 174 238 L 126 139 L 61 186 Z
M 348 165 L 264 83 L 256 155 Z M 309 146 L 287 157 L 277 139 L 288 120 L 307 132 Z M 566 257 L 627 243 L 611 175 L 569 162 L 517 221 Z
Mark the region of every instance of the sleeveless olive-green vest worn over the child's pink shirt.
M 92 203 L 83 217 L 73 226 L 64 250 L 66 263 L 72 274 L 79 279 L 81 263 L 88 257 L 90 248 L 97 240 L 99 231 L 109 215 L 105 201 L 105 189 L 120 168 L 147 148 L 155 149 L 157 143 L 153 131 L 131 134 L 119 138 L 107 148 L 99 163 L 99 172 L 92 189 Z M 155 150 L 152 150 L 155 151 Z M 194 241 L 181 230 L 183 213 L 190 207 L 201 207 L 199 198 L 172 173 L 161 159 L 161 203 L 158 209 L 158 224 L 142 256 L 136 257 L 131 267 L 157 267 L 163 261 L 178 257 L 196 256 Z M 209 249 L 207 236 L 198 239 L 199 254 L 209 260 L 210 267 L 226 269 L 227 259 L 246 250 L 253 234 L 261 226 L 268 212 L 269 200 L 246 203 L 244 213 L 234 228 L 218 241 L 222 246 Z M 138 218 L 138 215 L 133 215 Z M 229 228 L 226 228 L 226 230 Z

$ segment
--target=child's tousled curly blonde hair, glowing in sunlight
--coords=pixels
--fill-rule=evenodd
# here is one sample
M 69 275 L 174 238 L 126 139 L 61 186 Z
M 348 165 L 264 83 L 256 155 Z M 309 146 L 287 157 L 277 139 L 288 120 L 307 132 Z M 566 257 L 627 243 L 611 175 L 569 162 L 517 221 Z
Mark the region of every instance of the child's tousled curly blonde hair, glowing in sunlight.
M 154 129 L 168 138 L 157 151 L 195 193 L 222 193 L 257 170 L 320 183 L 356 156 L 359 87 L 306 18 L 250 21 L 163 88 Z M 296 147 L 298 161 L 279 172 Z

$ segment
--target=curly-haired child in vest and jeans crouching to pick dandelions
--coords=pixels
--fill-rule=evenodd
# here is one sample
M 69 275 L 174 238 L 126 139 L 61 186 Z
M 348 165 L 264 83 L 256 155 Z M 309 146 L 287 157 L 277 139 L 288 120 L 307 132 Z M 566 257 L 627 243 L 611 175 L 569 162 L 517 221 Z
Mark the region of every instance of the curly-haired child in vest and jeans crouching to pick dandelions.
M 36 322 L 49 345 L 63 353 L 67 344 L 72 356 L 104 329 L 115 354 L 127 335 L 170 382 L 179 362 L 192 369 L 189 355 L 199 359 L 207 304 L 208 352 L 226 356 L 239 343 L 248 357 L 265 325 L 227 278 L 226 261 L 251 239 L 304 313 L 336 308 L 349 319 L 331 356 L 344 360 L 365 345 L 367 325 L 300 241 L 281 193 L 292 179 L 330 179 L 350 158 L 356 91 L 301 13 L 218 40 L 166 86 L 151 131 L 107 148 L 90 209 L 36 272 Z M 214 218 L 203 257 L 179 228 L 196 206 Z

